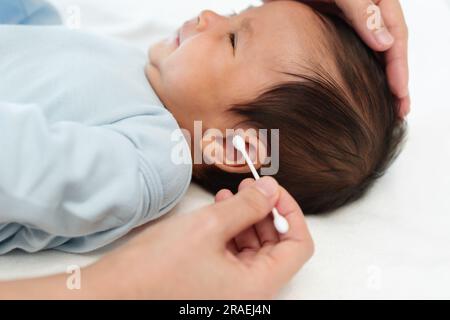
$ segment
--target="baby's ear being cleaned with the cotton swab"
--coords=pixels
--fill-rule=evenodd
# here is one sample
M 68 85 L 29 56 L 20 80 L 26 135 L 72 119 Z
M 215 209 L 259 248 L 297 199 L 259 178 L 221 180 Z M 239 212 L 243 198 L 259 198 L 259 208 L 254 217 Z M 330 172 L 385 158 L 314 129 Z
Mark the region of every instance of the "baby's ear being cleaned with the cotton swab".
M 228 136 L 205 134 L 202 139 L 203 159 L 208 165 L 230 173 L 249 173 L 244 157 L 233 147 L 233 137 L 238 134 L 245 140 L 246 150 L 255 168 L 260 169 L 268 159 L 267 139 L 254 129 L 239 129 Z

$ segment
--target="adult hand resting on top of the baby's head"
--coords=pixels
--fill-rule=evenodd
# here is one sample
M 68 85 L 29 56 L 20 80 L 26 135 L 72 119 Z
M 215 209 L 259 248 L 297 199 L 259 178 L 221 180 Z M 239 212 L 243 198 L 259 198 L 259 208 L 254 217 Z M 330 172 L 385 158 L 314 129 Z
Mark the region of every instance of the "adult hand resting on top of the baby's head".
M 265 0 L 270 2 L 276 0 Z M 386 73 L 392 93 L 404 118 L 411 108 L 408 82 L 408 28 L 398 0 L 296 0 L 316 8 L 335 6 L 374 51 L 384 52 Z M 368 21 L 380 15 L 380 25 L 369 28 Z

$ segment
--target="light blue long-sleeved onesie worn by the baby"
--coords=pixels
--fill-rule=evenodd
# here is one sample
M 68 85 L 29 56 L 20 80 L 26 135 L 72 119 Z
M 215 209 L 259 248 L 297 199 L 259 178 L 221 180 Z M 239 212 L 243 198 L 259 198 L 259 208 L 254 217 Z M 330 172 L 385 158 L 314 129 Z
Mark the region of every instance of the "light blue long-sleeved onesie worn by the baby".
M 183 196 L 192 163 L 172 152 L 189 147 L 146 59 L 62 26 L 0 25 L 0 254 L 91 251 Z

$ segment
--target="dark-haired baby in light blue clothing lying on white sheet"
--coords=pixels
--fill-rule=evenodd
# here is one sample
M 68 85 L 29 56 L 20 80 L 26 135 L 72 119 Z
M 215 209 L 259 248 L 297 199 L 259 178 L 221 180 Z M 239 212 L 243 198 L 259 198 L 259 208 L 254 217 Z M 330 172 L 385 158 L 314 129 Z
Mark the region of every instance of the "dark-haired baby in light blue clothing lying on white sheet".
M 18 2 L 27 20 L 42 12 Z M 250 170 L 215 158 L 225 150 L 173 161 L 179 128 L 192 158 L 212 143 L 196 121 L 224 137 L 279 129 L 275 177 L 306 213 L 359 198 L 404 136 L 378 57 L 344 22 L 294 1 L 204 11 L 149 59 L 105 37 L 11 25 L 25 19 L 14 3 L 0 5 L 0 254 L 102 247 L 171 210 L 191 176 L 235 190 Z

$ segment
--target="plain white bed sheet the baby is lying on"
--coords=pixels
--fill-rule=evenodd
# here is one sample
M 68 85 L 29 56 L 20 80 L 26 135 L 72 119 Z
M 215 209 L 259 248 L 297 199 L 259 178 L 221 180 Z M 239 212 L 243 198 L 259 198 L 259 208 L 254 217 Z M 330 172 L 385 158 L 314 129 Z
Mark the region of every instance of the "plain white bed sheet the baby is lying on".
M 231 12 L 238 0 L 52 0 L 82 28 L 145 50 L 201 9 Z M 316 254 L 280 299 L 450 298 L 450 1 L 404 0 L 410 29 L 412 114 L 404 152 L 361 201 L 308 217 Z M 74 11 L 75 10 L 75 11 Z M 149 32 L 153 30 L 153 32 Z M 212 201 L 192 185 L 173 214 Z M 0 279 L 65 272 L 117 246 L 85 255 L 47 251 L 0 257 Z

